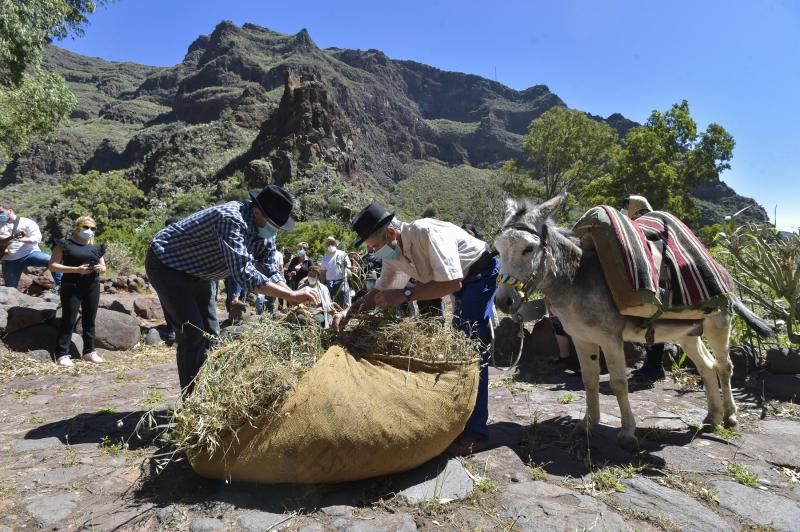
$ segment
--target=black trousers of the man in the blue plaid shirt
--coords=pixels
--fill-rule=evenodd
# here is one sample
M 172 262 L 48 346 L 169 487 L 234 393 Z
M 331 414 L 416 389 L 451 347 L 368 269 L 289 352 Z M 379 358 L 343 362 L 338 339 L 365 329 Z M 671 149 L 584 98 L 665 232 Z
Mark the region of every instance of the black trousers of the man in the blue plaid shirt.
M 161 301 L 164 317 L 175 331 L 178 378 L 181 389 L 189 394 L 206 360 L 206 335 L 219 334 L 211 282 L 165 266 L 152 250 L 147 252 L 145 270 Z

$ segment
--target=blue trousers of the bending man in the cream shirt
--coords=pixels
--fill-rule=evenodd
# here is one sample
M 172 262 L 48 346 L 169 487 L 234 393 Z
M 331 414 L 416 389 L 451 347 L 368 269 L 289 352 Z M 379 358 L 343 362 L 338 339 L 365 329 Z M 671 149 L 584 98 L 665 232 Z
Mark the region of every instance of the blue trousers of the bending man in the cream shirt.
M 467 336 L 481 341 L 481 376 L 478 382 L 478 397 L 475 408 L 467 421 L 465 431 L 481 439 L 489 439 L 489 352 L 491 343 L 489 319 L 494 307 L 494 293 L 497 290 L 497 274 L 500 261 L 494 257 L 492 265 L 482 272 L 470 272 L 462 281 L 461 290 L 456 292 L 456 309 L 453 326 Z

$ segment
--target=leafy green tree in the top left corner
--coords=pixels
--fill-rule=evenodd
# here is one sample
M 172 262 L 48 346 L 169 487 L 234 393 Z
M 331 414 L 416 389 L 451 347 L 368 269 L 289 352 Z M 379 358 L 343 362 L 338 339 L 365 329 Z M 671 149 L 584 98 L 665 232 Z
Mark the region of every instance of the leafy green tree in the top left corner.
M 0 161 L 53 131 L 75 106 L 59 74 L 39 64 L 53 39 L 81 35 L 105 0 L 0 0 Z

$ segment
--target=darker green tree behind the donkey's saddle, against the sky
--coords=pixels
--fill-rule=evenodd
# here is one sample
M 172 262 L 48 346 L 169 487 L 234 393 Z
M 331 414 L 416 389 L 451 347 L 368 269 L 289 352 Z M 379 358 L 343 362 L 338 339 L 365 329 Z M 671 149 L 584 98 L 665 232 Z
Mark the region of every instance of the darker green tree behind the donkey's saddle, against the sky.
M 689 193 L 701 183 L 719 180 L 730 168 L 734 145 L 718 124 L 698 134 L 686 100 L 665 113 L 654 110 L 644 126 L 626 135 L 619 176 L 609 190 L 616 198 L 641 194 L 655 209 L 692 221 L 698 210 Z

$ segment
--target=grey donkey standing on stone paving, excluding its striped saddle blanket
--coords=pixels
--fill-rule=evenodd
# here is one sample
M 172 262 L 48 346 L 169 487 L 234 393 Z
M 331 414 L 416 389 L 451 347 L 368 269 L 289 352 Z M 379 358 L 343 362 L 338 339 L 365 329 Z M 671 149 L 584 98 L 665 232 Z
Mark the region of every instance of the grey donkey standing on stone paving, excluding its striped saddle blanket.
M 527 200 L 507 200 L 505 221 L 495 247 L 500 254 L 501 276 L 519 280 L 524 293 L 541 291 L 552 313 L 572 337 L 580 361 L 586 389 L 586 415 L 581 428 L 590 430 L 600 421 L 598 395 L 600 367 L 598 347 L 602 348 L 610 377 L 611 390 L 617 398 L 622 428 L 617 443 L 627 450 L 639 448 L 636 420 L 628 401 L 623 342 L 643 342 L 645 328 L 641 318 L 623 316 L 609 292 L 597 253 L 582 250 L 569 231 L 557 229 L 550 219 L 565 194 L 535 205 Z M 522 298 L 519 292 L 500 285 L 495 296 L 497 307 L 513 313 Z M 762 336 L 772 330 L 735 297 L 734 309 L 748 325 Z M 680 343 L 703 378 L 708 402 L 705 424 L 712 428 L 724 423 L 737 424 L 736 404 L 731 394 L 732 365 L 728 357 L 731 312 L 715 309 L 702 320 L 656 320 L 651 341 Z M 705 334 L 713 354 L 701 341 Z

